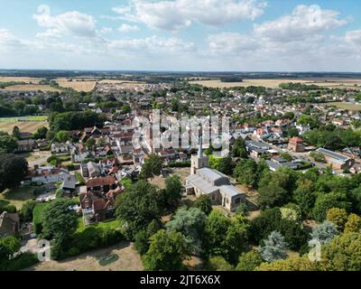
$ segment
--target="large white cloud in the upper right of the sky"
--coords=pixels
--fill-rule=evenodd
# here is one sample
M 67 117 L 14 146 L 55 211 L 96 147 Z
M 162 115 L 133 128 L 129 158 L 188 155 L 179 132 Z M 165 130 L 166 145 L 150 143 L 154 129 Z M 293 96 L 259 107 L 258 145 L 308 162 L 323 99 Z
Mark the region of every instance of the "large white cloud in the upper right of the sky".
M 337 11 L 323 10 L 318 5 L 298 5 L 292 14 L 255 24 L 255 33 L 274 42 L 303 41 L 346 24 L 347 20 L 339 19 Z

